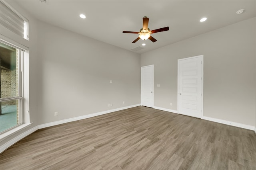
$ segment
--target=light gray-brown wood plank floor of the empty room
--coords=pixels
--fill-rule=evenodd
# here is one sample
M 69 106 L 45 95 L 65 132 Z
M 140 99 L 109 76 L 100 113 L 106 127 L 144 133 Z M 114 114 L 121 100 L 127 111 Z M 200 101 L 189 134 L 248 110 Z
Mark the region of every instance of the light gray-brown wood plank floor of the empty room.
M 148 107 L 40 129 L 1 170 L 256 170 L 253 131 Z

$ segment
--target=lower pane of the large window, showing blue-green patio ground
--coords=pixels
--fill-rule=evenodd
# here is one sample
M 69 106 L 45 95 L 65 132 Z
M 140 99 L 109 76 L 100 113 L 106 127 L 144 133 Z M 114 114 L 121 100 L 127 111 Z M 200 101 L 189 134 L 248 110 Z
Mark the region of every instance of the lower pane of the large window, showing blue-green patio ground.
M 19 124 L 19 100 L 1 102 L 0 132 Z

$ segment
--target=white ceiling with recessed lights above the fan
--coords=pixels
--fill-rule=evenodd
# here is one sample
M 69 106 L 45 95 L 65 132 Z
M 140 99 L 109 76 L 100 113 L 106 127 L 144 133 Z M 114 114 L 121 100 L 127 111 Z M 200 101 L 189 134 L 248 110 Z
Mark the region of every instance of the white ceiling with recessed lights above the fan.
M 144 53 L 183 39 L 256 16 L 256 0 L 17 0 L 22 8 L 46 23 L 136 53 Z M 243 14 L 236 11 L 245 9 Z M 79 15 L 83 13 L 86 19 Z M 142 17 L 149 18 L 150 30 L 169 26 L 149 39 L 132 43 L 140 31 Z M 203 17 L 208 20 L 200 22 Z M 142 43 L 146 43 L 143 47 Z M 134 49 L 143 47 L 138 51 Z M 138 49 L 138 48 L 137 48 Z

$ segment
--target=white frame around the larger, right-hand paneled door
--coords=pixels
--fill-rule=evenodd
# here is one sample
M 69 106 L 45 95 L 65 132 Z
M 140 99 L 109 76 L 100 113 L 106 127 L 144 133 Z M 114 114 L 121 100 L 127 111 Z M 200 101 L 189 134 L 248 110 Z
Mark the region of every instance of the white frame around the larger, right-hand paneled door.
M 179 92 L 180 92 L 180 68 L 179 68 L 179 61 L 182 61 L 182 60 L 188 60 L 188 59 L 194 59 L 194 58 L 201 58 L 202 59 L 202 64 L 201 64 L 201 70 L 202 70 L 202 88 L 201 88 L 201 93 L 202 93 L 202 98 L 201 98 L 201 119 L 203 117 L 203 113 L 204 113 L 204 55 L 197 55 L 197 56 L 194 56 L 194 57 L 187 57 L 187 58 L 184 58 L 184 59 L 178 59 L 178 91 L 177 91 L 177 111 L 178 113 L 180 114 L 180 95 L 179 95 Z

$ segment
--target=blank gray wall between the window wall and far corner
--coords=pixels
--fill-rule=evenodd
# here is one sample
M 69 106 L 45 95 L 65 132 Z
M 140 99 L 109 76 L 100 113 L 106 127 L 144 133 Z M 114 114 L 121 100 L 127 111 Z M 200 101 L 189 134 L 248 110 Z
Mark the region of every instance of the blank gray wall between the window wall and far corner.
M 39 124 L 140 104 L 136 53 L 39 22 L 38 57 Z

